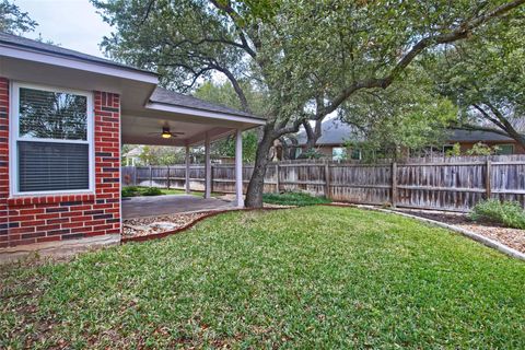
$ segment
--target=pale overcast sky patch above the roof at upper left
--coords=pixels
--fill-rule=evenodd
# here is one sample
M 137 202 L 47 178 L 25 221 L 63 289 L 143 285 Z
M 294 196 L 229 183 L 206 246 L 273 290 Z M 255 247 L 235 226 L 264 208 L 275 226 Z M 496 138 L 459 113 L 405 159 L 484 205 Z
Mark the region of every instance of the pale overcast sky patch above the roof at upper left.
M 104 57 L 98 44 L 112 27 L 102 21 L 89 0 L 15 0 L 20 10 L 38 23 L 28 38 L 42 35 L 63 48 Z

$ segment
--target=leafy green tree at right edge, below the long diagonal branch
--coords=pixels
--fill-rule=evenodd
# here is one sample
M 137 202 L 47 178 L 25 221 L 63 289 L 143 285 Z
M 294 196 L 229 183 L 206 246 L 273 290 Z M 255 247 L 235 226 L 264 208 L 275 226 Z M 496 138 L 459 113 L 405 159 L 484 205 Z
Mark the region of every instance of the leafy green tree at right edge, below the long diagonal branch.
M 516 13 L 425 60 L 440 92 L 460 107 L 455 127 L 525 147 L 525 16 Z

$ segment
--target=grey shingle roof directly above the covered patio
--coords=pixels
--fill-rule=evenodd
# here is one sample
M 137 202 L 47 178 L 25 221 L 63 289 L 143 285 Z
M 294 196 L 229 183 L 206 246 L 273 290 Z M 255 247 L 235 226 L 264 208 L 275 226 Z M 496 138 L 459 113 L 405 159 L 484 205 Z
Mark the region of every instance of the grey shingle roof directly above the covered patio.
M 201 110 L 208 110 L 208 112 L 232 114 L 232 115 L 242 116 L 242 117 L 262 119 L 260 117 L 254 116 L 246 112 L 230 108 L 230 107 L 211 103 L 208 101 L 203 101 L 197 97 L 183 95 L 177 92 L 163 89 L 163 88 L 156 88 L 153 94 L 151 95 L 150 101 L 153 103 L 162 103 L 162 104 L 177 106 L 177 107 L 187 107 L 187 108 L 194 108 L 194 109 L 201 109 Z

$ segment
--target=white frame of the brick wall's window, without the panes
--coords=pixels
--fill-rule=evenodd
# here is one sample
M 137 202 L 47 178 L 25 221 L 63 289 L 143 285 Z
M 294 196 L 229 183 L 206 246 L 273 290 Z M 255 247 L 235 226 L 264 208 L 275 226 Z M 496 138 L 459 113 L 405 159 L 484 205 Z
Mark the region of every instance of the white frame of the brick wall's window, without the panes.
M 40 139 L 20 136 L 20 89 L 27 88 L 48 92 L 69 93 L 86 97 L 88 106 L 88 135 L 86 140 L 61 140 L 61 139 Z M 11 197 L 34 197 L 34 196 L 52 196 L 52 195 L 77 195 L 77 194 L 94 194 L 95 189 L 95 145 L 94 145 L 94 105 L 93 93 L 88 91 L 79 91 L 71 89 L 61 89 L 56 86 L 39 85 L 23 82 L 10 83 L 10 106 L 9 106 L 9 168 L 10 168 L 10 189 Z M 46 143 L 74 143 L 88 144 L 88 168 L 89 168 L 89 188 L 85 189 L 60 189 L 45 191 L 20 191 L 19 190 L 19 141 L 46 142 Z

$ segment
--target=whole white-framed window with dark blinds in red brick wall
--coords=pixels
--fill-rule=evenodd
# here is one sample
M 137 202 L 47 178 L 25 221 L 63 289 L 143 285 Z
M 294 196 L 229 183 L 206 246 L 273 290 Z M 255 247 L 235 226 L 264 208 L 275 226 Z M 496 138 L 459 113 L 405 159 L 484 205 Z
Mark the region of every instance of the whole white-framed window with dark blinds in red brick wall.
M 13 90 L 15 192 L 90 190 L 92 96 L 24 84 Z

